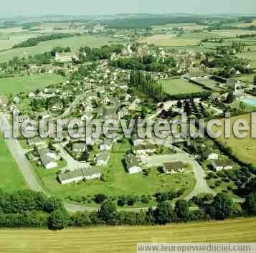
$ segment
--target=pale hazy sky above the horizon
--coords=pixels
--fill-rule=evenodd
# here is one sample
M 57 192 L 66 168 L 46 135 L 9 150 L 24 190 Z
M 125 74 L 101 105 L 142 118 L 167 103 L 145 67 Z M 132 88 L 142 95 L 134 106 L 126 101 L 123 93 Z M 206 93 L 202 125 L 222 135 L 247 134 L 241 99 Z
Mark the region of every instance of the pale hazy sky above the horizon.
M 1 0 L 0 15 L 256 13 L 256 0 Z

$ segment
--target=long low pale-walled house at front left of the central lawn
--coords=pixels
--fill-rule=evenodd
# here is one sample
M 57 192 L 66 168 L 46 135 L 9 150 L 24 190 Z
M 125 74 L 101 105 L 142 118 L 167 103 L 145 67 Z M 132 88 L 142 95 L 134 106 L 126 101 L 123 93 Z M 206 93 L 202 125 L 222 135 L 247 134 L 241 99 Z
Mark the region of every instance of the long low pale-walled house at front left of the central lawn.
M 101 173 L 95 168 L 81 168 L 77 171 L 62 173 L 58 176 L 60 183 L 77 183 L 82 180 L 100 178 Z

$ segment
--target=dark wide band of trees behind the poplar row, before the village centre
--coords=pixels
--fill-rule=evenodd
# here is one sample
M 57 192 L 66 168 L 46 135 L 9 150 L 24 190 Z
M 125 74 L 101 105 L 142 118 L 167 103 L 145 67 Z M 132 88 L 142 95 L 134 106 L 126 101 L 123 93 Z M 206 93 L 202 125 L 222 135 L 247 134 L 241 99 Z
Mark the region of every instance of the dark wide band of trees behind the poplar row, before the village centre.
M 148 72 L 164 72 L 171 67 L 176 67 L 174 57 L 166 57 L 159 60 L 153 56 L 120 58 L 110 62 L 113 67 L 119 67 L 124 70 L 146 70 Z

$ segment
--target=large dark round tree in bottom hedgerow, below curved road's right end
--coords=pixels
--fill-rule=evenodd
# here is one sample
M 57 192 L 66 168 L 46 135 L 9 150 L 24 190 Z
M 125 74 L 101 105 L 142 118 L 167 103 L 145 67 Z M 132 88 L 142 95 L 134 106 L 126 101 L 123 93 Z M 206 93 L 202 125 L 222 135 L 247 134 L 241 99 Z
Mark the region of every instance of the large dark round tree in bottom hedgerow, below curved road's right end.
M 227 219 L 231 216 L 233 201 L 227 194 L 217 194 L 210 207 L 210 215 L 215 219 Z

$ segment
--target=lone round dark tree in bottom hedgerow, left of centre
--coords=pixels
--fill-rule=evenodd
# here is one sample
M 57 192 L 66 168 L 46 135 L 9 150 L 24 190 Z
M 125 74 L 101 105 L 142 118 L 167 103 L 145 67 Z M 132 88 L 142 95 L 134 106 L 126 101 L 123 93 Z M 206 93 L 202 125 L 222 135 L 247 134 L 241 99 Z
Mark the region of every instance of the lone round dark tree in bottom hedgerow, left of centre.
M 106 224 L 116 224 L 118 218 L 118 211 L 112 201 L 105 201 L 100 208 L 99 218 Z

